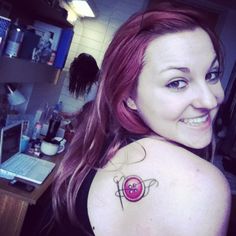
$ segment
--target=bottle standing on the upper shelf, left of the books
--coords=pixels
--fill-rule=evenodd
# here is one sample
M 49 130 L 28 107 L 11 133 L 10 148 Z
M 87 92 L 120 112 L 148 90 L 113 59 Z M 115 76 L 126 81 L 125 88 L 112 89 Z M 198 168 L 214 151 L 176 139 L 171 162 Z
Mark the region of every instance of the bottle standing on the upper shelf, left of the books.
M 20 45 L 23 41 L 24 32 L 18 24 L 18 20 L 12 25 L 5 48 L 5 55 L 9 57 L 17 57 Z

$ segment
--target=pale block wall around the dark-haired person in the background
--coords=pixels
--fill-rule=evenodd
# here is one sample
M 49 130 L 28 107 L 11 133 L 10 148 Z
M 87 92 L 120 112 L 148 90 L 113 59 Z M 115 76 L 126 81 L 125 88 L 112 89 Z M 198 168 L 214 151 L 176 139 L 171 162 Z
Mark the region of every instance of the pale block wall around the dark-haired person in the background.
M 80 19 L 75 25 L 65 70 L 69 69 L 72 60 L 82 52 L 91 54 L 100 67 L 114 32 L 134 12 L 145 9 L 148 0 L 96 0 L 95 2 L 98 16 Z M 68 79 L 65 79 L 59 101 L 63 102 L 63 111 L 73 112 L 83 106 L 84 100 L 75 99 L 69 94 L 68 83 Z

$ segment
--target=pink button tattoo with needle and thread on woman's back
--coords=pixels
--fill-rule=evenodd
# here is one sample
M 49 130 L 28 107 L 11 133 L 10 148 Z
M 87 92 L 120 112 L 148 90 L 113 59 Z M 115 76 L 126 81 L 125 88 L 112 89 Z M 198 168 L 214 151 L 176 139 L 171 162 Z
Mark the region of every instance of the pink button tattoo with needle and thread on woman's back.
M 115 195 L 120 199 L 122 210 L 124 210 L 122 198 L 129 202 L 137 202 L 148 195 L 152 186 L 158 186 L 156 179 L 142 180 L 137 175 L 122 176 L 121 178 L 115 176 L 113 180 L 117 186 Z

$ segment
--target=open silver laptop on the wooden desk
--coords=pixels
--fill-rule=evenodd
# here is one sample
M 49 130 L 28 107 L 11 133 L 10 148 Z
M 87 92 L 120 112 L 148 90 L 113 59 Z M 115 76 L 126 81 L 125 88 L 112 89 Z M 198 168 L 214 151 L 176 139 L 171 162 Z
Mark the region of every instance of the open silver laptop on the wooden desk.
M 6 175 L 41 184 L 55 163 L 20 152 L 23 122 L 3 127 L 0 137 L 0 170 Z

